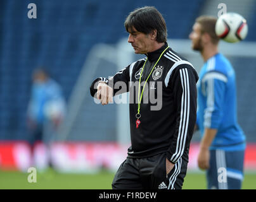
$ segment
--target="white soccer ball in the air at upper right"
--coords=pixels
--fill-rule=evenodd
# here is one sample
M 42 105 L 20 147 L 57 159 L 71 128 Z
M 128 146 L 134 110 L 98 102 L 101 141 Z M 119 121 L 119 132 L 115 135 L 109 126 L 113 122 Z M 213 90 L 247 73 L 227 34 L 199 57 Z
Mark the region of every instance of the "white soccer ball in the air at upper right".
M 218 18 L 215 33 L 226 42 L 236 43 L 245 39 L 248 25 L 245 18 L 238 13 L 225 13 Z

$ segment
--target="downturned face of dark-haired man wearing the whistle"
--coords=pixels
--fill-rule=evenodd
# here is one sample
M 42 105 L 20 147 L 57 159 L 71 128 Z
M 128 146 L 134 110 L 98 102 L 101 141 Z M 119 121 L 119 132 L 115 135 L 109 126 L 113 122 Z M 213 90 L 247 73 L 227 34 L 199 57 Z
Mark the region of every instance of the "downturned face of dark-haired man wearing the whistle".
M 128 43 L 131 43 L 136 54 L 146 54 L 150 52 L 152 42 L 150 34 L 138 32 L 135 28 L 132 28 L 129 32 Z

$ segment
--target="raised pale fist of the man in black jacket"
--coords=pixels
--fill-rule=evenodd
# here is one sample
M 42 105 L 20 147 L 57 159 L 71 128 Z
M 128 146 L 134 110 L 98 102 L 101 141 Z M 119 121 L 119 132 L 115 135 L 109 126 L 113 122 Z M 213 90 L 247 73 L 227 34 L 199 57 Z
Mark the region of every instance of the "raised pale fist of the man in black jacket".
M 107 105 L 109 102 L 113 102 L 113 89 L 103 81 L 99 81 L 98 83 L 97 99 L 101 101 L 102 105 Z

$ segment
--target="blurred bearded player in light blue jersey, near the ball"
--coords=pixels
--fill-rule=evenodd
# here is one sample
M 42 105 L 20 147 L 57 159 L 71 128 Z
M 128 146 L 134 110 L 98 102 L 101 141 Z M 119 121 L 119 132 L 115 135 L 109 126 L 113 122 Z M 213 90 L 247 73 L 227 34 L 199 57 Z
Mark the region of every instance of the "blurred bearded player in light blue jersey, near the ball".
M 207 169 L 208 189 L 241 189 L 245 135 L 236 115 L 236 77 L 218 50 L 217 19 L 200 16 L 189 35 L 200 51 L 203 67 L 198 81 L 196 124 L 202 134 L 198 166 Z

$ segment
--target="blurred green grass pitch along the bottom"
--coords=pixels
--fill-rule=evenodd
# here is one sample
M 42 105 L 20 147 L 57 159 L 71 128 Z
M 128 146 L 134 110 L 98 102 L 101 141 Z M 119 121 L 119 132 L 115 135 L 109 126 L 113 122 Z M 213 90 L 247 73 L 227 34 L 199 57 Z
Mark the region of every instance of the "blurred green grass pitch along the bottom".
M 113 172 L 62 174 L 54 170 L 37 172 L 37 182 L 28 182 L 29 173 L 0 171 L 0 189 L 111 189 Z M 183 189 L 205 189 L 203 172 L 188 172 Z M 246 172 L 243 189 L 256 189 L 256 172 Z

